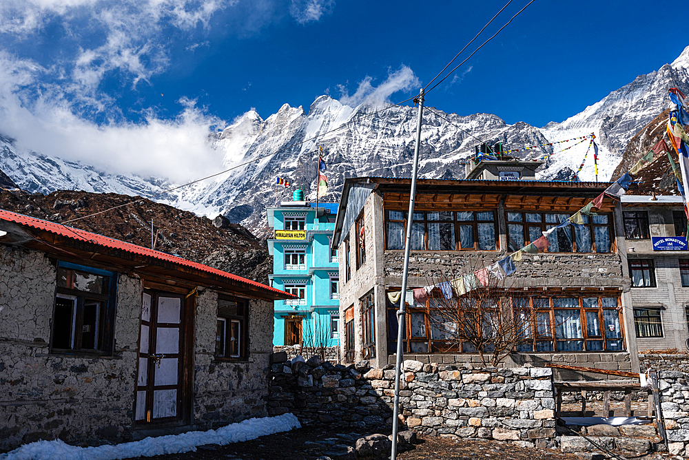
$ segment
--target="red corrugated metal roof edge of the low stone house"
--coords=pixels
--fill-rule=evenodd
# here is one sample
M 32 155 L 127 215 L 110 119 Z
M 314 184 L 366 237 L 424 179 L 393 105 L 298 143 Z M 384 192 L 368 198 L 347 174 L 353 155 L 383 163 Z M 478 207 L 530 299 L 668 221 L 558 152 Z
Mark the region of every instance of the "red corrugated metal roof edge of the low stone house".
M 90 231 L 75 229 L 74 227 L 67 227 L 63 224 L 50 222 L 48 220 L 32 218 L 30 216 L 24 216 L 23 214 L 5 211 L 4 209 L 0 209 L 0 219 L 6 220 L 8 222 L 14 222 L 15 224 L 25 225 L 33 229 L 50 231 L 50 233 L 55 233 L 56 235 L 63 236 L 65 238 L 70 238 L 72 240 L 90 242 L 92 244 L 97 244 L 102 247 L 120 249 L 121 251 L 127 251 L 138 255 L 145 255 L 147 257 L 156 258 L 158 260 L 164 260 L 165 262 L 172 262 L 173 264 L 188 266 L 192 269 L 205 271 L 206 273 L 212 273 L 214 275 L 218 275 L 229 280 L 249 284 L 259 289 L 264 289 L 265 291 L 279 293 L 285 295 L 285 297 L 291 297 L 290 294 L 285 293 L 284 291 L 280 291 L 279 289 L 266 286 L 265 284 L 261 284 L 256 281 L 247 280 L 246 278 L 233 275 L 232 273 L 227 273 L 226 271 L 214 269 L 211 266 L 198 264 L 196 262 L 192 262 L 191 260 L 176 257 L 172 254 L 164 253 L 161 251 L 154 251 L 153 249 L 148 249 L 143 246 L 137 246 L 136 244 L 115 240 L 114 238 L 108 238 L 107 236 L 99 235 L 98 233 L 91 233 Z

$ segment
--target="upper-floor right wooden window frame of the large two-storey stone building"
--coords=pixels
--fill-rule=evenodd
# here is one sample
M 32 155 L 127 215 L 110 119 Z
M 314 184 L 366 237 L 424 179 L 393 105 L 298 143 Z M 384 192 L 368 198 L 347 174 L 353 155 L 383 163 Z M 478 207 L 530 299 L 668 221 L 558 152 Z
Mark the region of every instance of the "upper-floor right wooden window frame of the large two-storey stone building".
M 522 221 L 518 222 L 515 220 L 510 220 L 509 215 L 511 213 L 518 213 L 522 215 Z M 526 214 L 539 214 L 540 215 L 540 222 L 526 222 Z M 567 214 L 568 216 L 571 216 L 571 213 L 566 213 L 562 211 L 528 211 L 525 209 L 505 209 L 505 231 L 506 231 L 506 236 L 507 236 L 507 247 L 509 251 L 518 251 L 519 249 L 522 249 L 522 247 L 526 247 L 526 245 L 533 243 L 534 241 L 531 240 L 531 236 L 529 235 L 529 227 L 540 227 L 539 231 L 539 237 L 543 236 L 543 232 L 548 229 L 548 227 L 555 227 L 557 226 L 557 223 L 555 222 L 546 222 L 546 214 Z M 593 216 L 590 216 L 588 218 L 588 223 L 583 224 L 586 227 L 588 227 L 590 231 L 590 236 L 591 236 L 591 251 L 590 252 L 577 252 L 577 238 L 576 238 L 576 233 L 575 233 L 575 227 L 573 225 L 569 225 L 568 227 L 564 227 L 562 230 L 563 231 L 569 231 L 569 236 L 570 240 L 572 241 L 572 250 L 571 251 L 557 251 L 557 252 L 551 252 L 546 248 L 544 251 L 539 251 L 539 252 L 549 252 L 551 254 L 593 254 L 593 253 L 598 253 L 598 254 L 612 254 L 617 252 L 617 246 L 615 244 L 615 232 L 613 228 L 613 213 L 597 213 L 599 215 L 605 215 L 608 217 L 608 223 L 607 224 L 595 224 L 593 222 Z M 522 247 L 510 247 L 510 226 L 511 225 L 520 225 L 522 227 L 522 235 L 524 236 L 524 246 Z M 606 252 L 598 252 L 597 251 L 597 244 L 596 244 L 596 228 L 607 228 L 608 229 L 608 238 L 610 239 L 610 251 Z

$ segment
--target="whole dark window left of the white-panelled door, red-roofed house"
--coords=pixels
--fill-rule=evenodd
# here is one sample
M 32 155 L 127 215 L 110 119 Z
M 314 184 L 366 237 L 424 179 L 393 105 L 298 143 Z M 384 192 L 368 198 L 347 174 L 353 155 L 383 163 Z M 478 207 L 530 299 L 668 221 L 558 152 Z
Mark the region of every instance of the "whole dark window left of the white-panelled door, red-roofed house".
M 115 284 L 111 272 L 60 264 L 52 320 L 53 353 L 103 354 L 112 350 Z

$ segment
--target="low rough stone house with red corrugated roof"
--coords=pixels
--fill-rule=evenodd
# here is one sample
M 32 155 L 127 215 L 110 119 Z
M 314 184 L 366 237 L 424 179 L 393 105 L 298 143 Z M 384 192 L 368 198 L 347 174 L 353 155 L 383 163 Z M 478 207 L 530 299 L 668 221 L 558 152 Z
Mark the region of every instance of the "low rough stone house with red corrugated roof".
M 209 266 L 0 210 L 0 450 L 267 415 L 273 301 Z

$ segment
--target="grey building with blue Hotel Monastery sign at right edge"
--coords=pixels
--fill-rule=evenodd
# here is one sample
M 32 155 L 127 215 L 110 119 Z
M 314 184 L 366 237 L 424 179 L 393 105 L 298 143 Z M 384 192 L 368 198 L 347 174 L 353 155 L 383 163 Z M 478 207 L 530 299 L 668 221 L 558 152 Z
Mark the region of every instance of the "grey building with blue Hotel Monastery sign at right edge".
M 689 248 L 681 196 L 621 197 L 624 247 L 639 351 L 687 350 Z M 625 260 L 626 259 L 626 260 Z

